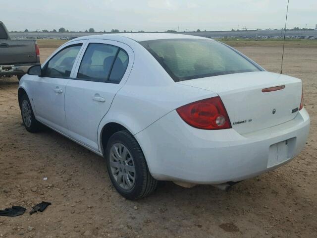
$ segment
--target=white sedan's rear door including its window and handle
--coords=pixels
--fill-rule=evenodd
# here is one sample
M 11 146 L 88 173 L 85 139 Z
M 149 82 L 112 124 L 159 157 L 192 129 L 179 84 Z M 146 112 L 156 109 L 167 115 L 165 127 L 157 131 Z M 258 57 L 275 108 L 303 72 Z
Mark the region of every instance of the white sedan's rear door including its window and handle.
M 68 135 L 99 151 L 98 126 L 127 80 L 133 51 L 123 43 L 89 40 L 66 86 Z

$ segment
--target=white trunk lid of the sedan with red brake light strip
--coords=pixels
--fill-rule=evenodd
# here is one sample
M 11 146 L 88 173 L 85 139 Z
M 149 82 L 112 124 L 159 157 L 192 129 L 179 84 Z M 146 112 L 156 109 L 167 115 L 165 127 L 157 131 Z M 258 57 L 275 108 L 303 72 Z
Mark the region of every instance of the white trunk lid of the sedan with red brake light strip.
M 232 128 L 240 134 L 294 119 L 302 96 L 300 79 L 266 71 L 220 75 L 178 83 L 217 93 L 226 108 Z M 272 88 L 277 86 L 281 87 Z

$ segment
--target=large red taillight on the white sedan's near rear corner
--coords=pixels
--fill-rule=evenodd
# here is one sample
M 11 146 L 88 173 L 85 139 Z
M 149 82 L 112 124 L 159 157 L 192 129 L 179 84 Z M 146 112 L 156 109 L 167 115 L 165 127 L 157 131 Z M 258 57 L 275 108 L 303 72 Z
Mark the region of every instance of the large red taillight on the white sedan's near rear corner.
M 176 111 L 187 124 L 196 128 L 207 130 L 231 128 L 227 111 L 219 96 L 187 104 Z

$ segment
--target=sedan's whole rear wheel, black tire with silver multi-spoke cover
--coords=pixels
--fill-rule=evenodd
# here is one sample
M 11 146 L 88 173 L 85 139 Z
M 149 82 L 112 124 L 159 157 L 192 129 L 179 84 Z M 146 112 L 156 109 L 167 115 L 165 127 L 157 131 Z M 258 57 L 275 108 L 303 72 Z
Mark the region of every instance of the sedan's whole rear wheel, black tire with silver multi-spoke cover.
M 112 184 L 127 199 L 145 197 L 157 187 L 140 145 L 128 131 L 119 131 L 110 137 L 106 164 Z

